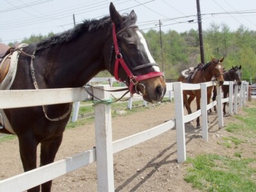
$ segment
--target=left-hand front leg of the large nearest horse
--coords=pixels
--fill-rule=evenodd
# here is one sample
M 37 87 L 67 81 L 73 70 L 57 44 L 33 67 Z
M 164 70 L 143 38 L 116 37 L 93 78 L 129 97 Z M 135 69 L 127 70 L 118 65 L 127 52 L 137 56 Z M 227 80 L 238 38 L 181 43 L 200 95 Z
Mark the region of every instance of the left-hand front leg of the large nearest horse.
M 20 159 L 23 164 L 24 172 L 33 170 L 36 168 L 36 147 L 38 142 L 34 138 L 28 136 L 19 136 L 19 148 L 20 148 Z M 40 191 L 40 186 L 28 189 L 28 192 L 38 192 Z

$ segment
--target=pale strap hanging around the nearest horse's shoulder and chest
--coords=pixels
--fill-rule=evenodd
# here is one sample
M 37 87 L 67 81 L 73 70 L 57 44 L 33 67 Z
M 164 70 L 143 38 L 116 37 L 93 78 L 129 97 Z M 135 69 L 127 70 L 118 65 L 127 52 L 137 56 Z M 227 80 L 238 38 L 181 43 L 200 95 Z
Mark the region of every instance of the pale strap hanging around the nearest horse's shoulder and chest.
M 33 84 L 34 84 L 35 89 L 39 90 L 38 84 L 36 82 L 35 68 L 33 66 L 33 59 L 35 58 L 35 51 L 33 52 L 33 54 L 28 54 L 28 53 L 22 51 L 21 49 L 19 49 L 19 51 L 22 52 L 23 54 L 25 54 L 26 56 L 29 56 L 31 58 L 31 61 L 30 61 L 31 76 L 32 76 L 32 80 L 33 80 Z M 57 117 L 57 118 L 49 118 L 49 116 L 46 113 L 45 106 L 42 106 L 45 118 L 47 118 L 47 120 L 50 120 L 52 122 L 57 122 L 57 121 L 60 121 L 60 120 L 63 120 L 64 118 L 66 118 L 68 116 L 68 114 L 71 112 L 72 107 L 73 107 L 72 103 L 70 103 L 68 111 L 64 115 L 61 115 L 60 117 Z

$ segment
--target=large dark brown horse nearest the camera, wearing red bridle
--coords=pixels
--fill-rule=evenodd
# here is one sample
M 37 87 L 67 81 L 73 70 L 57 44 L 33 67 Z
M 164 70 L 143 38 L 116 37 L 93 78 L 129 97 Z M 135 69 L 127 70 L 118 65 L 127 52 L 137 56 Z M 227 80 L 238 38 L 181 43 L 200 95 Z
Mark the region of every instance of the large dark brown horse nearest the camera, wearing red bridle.
M 166 92 L 163 74 L 136 26 L 136 13 L 121 16 L 111 3 L 110 17 L 85 20 L 74 29 L 28 45 L 20 51 L 11 90 L 77 88 L 101 70 L 124 81 L 131 93 L 159 102 Z M 37 86 L 36 86 L 37 84 Z M 70 104 L 5 109 L 19 138 L 24 171 L 36 168 L 36 147 L 41 144 L 40 166 L 52 163 L 70 117 Z M 8 132 L 1 129 L 1 132 Z M 41 185 L 51 191 L 52 182 Z M 29 191 L 40 191 L 36 186 Z

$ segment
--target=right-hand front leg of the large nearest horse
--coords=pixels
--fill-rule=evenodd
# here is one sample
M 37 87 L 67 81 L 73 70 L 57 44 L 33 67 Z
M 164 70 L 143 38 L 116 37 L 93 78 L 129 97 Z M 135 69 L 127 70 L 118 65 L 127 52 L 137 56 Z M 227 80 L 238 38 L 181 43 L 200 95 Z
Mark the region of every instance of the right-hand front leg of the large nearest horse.
M 40 166 L 52 163 L 58 152 L 63 134 L 58 137 L 51 138 L 51 140 L 45 140 L 41 142 L 41 154 L 40 154 Z M 42 184 L 42 192 L 51 191 L 52 180 L 49 180 Z

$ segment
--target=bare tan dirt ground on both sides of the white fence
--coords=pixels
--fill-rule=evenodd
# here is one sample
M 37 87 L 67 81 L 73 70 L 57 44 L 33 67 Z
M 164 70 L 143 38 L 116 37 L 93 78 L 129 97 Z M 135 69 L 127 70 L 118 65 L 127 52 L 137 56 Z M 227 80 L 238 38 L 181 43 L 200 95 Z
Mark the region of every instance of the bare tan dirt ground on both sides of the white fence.
M 253 100 L 255 102 L 256 100 Z M 252 106 L 246 102 L 246 107 Z M 186 111 L 186 110 L 185 110 Z M 195 109 L 193 109 L 195 111 Z M 239 115 L 243 111 L 239 109 Z M 150 129 L 174 118 L 174 103 L 164 102 L 150 106 L 147 111 L 112 118 L 113 141 Z M 236 118 L 225 116 L 224 124 L 236 122 Z M 242 143 L 236 148 L 227 148 L 220 143 L 223 137 L 232 136 L 225 127 L 218 127 L 217 115 L 209 116 L 209 141 L 202 139 L 202 129 L 186 125 L 187 157 L 203 153 L 216 153 L 234 157 L 237 150 L 243 157 L 256 157 L 255 140 Z M 55 161 L 74 156 L 95 146 L 94 124 L 64 133 L 63 143 Z M 22 173 L 19 143 L 15 140 L 0 143 L 0 179 Z M 177 163 L 176 130 L 172 129 L 156 138 L 114 154 L 115 191 L 198 191 L 184 181 L 186 163 Z M 254 153 L 253 153 L 254 151 Z M 80 168 L 53 180 L 52 191 L 97 191 L 96 163 Z

